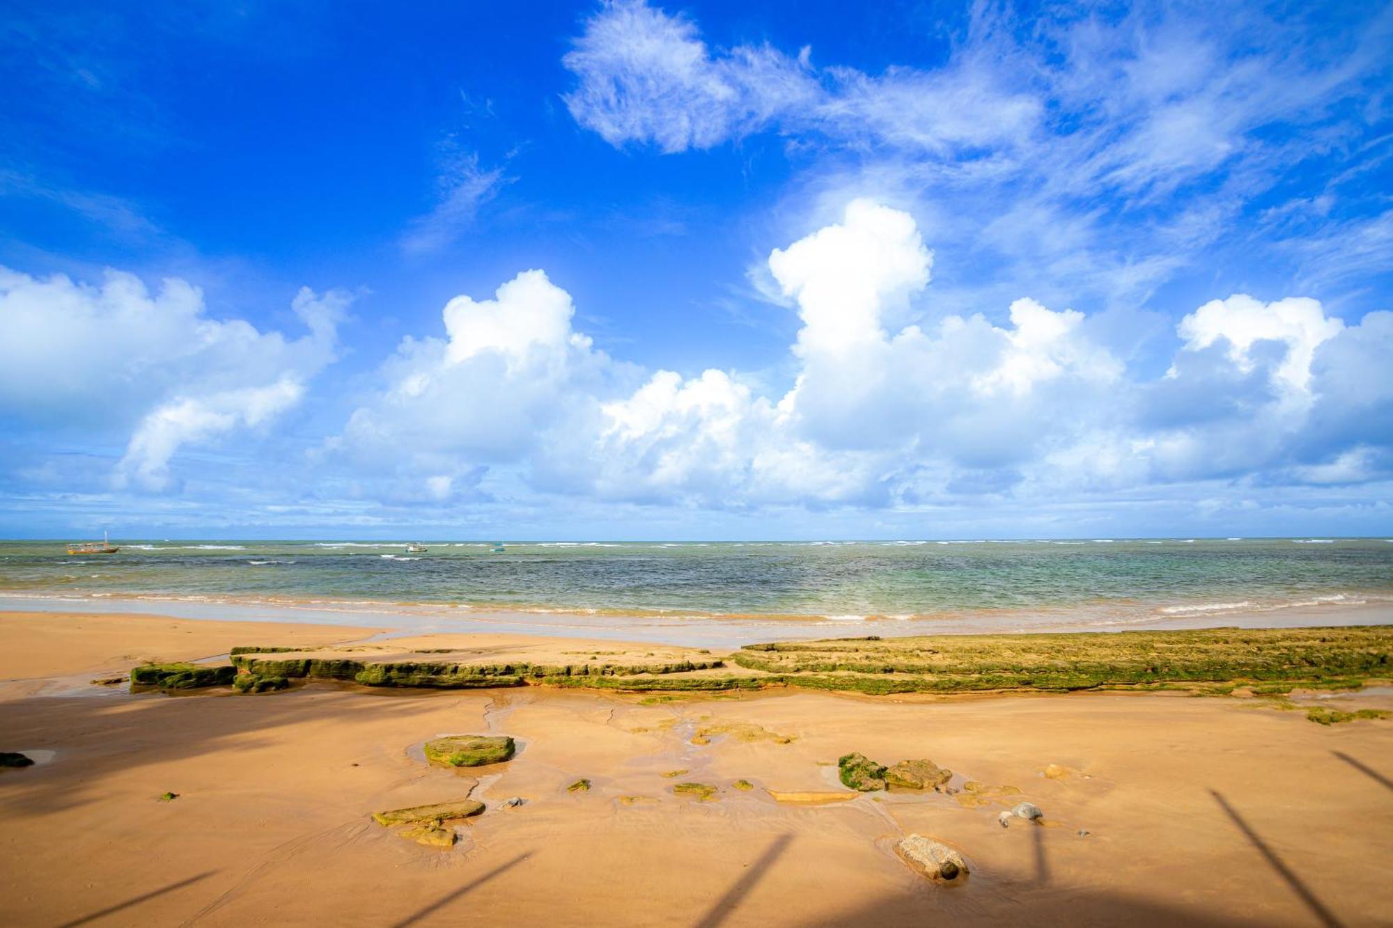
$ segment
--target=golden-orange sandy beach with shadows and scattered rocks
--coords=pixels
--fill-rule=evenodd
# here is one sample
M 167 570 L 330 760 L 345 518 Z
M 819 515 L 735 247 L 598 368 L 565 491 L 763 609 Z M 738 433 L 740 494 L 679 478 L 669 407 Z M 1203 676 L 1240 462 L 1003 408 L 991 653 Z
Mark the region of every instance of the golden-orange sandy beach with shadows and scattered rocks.
M 96 676 L 130 655 L 210 656 L 267 635 L 343 645 L 364 631 L 0 617 L 0 651 L 25 655 L 3 665 L 0 750 L 39 761 L 0 772 L 10 924 L 1393 918 L 1386 720 L 1321 726 L 1259 699 L 1174 694 L 644 697 L 311 681 L 171 697 L 33 686 Z M 616 649 L 513 635 L 411 644 L 430 641 L 535 660 Z M 1321 702 L 1393 708 L 1393 695 Z M 508 734 L 520 747 L 506 764 L 428 765 L 421 744 L 450 733 Z M 850 751 L 887 764 L 931 758 L 954 783 L 985 789 L 851 793 L 836 769 Z M 591 787 L 568 791 L 579 779 Z M 674 793 L 678 782 L 716 791 L 698 801 Z M 160 801 L 166 791 L 177 798 Z M 456 825 L 447 850 L 371 818 L 464 797 L 486 810 Z M 507 808 L 510 797 L 524 801 Z M 1042 822 L 1003 828 L 997 815 L 1022 800 L 1043 810 Z M 971 875 L 943 885 L 912 872 L 893 853 L 908 833 L 956 847 Z

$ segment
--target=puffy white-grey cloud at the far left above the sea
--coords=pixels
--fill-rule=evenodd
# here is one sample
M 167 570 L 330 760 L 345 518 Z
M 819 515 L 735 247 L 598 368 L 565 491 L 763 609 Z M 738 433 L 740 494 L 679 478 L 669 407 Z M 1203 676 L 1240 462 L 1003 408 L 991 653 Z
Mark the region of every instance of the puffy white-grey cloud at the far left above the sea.
M 198 287 L 166 279 L 152 294 L 135 274 L 100 286 L 0 268 L 0 408 L 29 429 L 130 435 L 116 477 L 171 486 L 188 443 L 256 428 L 295 405 L 334 359 L 350 297 L 301 288 L 299 339 L 244 319 L 213 319 Z

